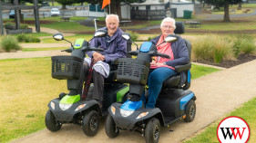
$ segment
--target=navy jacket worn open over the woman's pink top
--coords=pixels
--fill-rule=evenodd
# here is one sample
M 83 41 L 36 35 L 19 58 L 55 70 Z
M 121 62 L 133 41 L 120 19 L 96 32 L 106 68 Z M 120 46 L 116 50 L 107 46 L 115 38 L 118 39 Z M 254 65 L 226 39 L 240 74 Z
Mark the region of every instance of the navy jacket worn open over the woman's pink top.
M 151 40 L 151 43 L 157 44 L 161 35 Z M 167 65 L 175 67 L 189 63 L 189 51 L 186 46 L 185 40 L 179 37 L 178 41 L 171 43 L 171 50 L 173 52 L 174 60 L 166 62 Z

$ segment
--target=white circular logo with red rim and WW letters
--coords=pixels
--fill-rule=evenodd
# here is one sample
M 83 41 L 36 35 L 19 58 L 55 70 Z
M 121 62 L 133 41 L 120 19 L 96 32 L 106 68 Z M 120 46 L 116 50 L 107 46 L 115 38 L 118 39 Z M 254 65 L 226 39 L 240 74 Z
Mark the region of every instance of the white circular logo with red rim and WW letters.
M 220 121 L 217 136 L 221 143 L 246 143 L 250 137 L 250 129 L 245 120 L 230 116 Z

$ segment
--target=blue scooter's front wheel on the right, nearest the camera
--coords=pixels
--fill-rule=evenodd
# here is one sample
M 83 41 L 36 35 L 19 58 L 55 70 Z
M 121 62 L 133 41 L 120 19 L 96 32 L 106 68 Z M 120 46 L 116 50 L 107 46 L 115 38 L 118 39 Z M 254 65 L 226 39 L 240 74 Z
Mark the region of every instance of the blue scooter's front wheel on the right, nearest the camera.
M 157 143 L 160 137 L 160 122 L 159 119 L 152 118 L 148 121 L 145 129 L 146 143 Z

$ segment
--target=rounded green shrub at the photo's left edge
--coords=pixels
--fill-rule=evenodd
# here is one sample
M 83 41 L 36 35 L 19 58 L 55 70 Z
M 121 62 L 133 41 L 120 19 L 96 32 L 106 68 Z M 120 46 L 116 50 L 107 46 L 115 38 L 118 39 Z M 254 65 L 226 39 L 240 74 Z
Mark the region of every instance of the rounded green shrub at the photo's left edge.
M 1 47 L 5 52 L 15 52 L 21 50 L 21 46 L 18 45 L 15 37 L 7 35 L 3 37 Z

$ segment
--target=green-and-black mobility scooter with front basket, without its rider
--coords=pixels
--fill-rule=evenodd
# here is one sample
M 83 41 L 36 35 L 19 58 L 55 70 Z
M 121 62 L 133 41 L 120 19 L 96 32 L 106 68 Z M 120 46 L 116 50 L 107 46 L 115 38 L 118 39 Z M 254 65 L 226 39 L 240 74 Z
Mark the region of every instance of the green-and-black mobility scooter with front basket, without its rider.
M 94 37 L 104 37 L 107 33 L 98 30 Z M 67 41 L 61 33 L 56 33 L 53 37 L 56 41 Z M 73 123 L 80 125 L 87 136 L 94 136 L 97 134 L 100 117 L 108 115 L 108 107 L 116 101 L 122 101 L 128 92 L 128 85 L 115 81 L 116 71 L 111 71 L 110 68 L 108 79 L 105 79 L 102 108 L 97 100 L 87 100 L 82 96 L 91 96 L 94 88 L 91 84 L 87 94 L 82 93 L 85 78 L 83 62 L 88 51 L 103 50 L 91 47 L 84 39 L 77 39 L 74 46 L 71 43 L 71 47 L 63 51 L 71 52 L 71 56 L 52 57 L 52 77 L 57 80 L 67 80 L 69 93 L 60 93 L 58 98 L 48 103 L 49 110 L 46 112 L 45 123 L 50 131 L 59 130 L 62 124 Z

